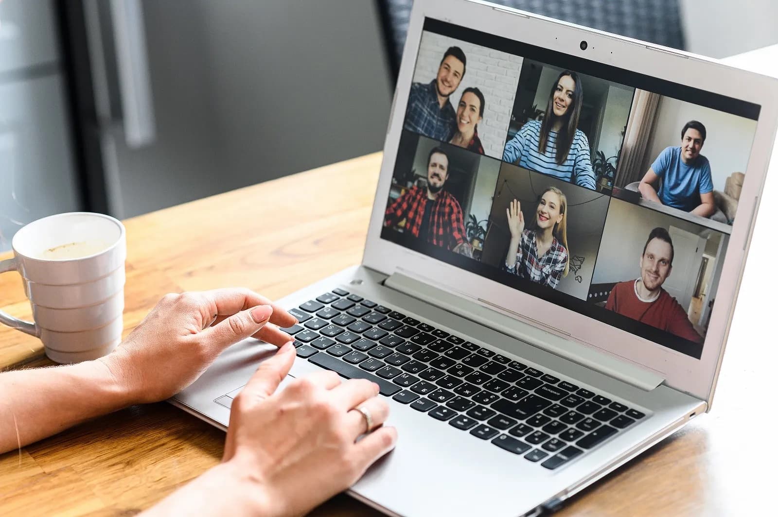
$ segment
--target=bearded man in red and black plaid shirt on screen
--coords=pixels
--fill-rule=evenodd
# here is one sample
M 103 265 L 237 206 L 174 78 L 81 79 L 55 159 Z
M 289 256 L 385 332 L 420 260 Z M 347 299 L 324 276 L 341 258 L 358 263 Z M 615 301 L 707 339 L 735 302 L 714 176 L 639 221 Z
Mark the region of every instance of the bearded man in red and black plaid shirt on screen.
M 433 148 L 427 158 L 427 186 L 412 187 L 390 204 L 384 226 L 402 227 L 404 232 L 421 237 L 433 246 L 470 255 L 464 238 L 464 219 L 459 201 L 443 190 L 448 180 L 448 155 Z

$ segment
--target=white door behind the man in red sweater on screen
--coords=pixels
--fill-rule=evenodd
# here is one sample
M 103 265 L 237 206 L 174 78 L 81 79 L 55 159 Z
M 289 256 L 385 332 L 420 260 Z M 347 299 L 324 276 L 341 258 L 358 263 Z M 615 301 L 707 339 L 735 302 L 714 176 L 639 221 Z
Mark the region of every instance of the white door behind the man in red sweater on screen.
M 670 238 L 675 250 L 673 270 L 662 287 L 688 311 L 699 267 L 703 263 L 705 239 L 675 226 L 670 227 Z

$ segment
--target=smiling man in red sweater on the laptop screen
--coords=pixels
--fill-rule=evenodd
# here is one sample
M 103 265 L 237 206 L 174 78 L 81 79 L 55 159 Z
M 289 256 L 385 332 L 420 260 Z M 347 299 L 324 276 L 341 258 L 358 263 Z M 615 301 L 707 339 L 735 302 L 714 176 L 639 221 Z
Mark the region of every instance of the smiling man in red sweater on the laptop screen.
M 668 231 L 651 230 L 640 256 L 640 278 L 614 285 L 605 309 L 702 344 L 703 338 L 694 330 L 686 311 L 662 288 L 672 271 L 674 254 Z

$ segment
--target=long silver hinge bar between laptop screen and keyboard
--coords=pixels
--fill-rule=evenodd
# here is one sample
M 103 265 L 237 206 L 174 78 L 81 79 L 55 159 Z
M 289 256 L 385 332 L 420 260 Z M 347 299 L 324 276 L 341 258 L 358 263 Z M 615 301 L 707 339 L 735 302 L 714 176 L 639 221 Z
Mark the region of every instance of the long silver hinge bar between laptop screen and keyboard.
M 664 376 L 658 372 L 629 362 L 626 358 L 599 351 L 596 345 L 584 344 L 545 323 L 491 302 L 454 292 L 449 287 L 436 287 L 429 279 L 420 280 L 417 275 L 414 277 L 395 272 L 384 281 L 384 285 L 637 388 L 650 391 L 664 382 Z

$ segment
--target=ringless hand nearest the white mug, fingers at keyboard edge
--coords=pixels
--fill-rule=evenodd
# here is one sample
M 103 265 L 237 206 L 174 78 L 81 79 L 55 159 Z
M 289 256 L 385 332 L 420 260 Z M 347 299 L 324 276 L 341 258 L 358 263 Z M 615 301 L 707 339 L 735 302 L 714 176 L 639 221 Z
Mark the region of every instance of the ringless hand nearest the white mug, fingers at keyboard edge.
M 157 402 L 194 383 L 219 354 L 246 337 L 282 346 L 291 337 L 279 327 L 294 323 L 294 316 L 249 289 L 168 294 L 99 361 L 128 403 Z

